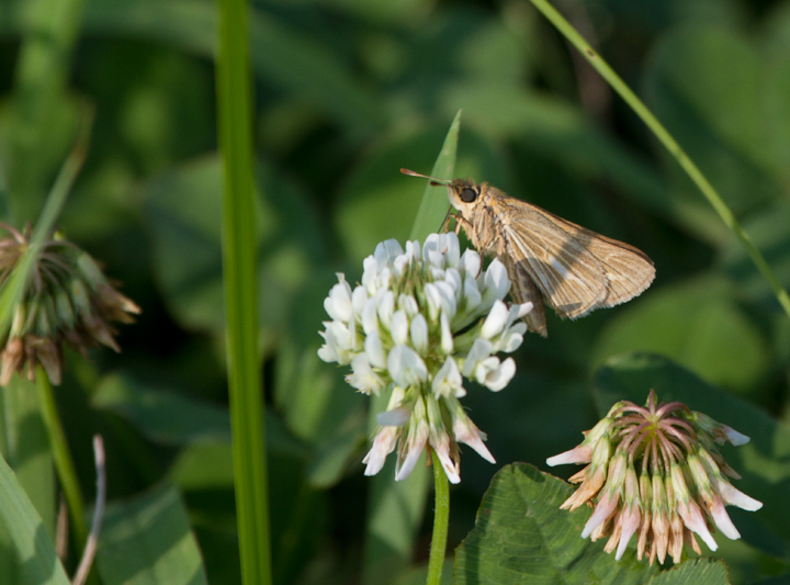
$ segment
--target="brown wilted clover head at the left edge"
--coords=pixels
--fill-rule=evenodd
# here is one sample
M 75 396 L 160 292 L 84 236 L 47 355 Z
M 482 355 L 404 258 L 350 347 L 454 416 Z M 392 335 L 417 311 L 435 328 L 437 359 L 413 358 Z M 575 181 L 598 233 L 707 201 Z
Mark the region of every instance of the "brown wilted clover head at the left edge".
M 30 227 L 20 233 L 0 224 L 10 235 L 0 238 L 0 290 L 30 249 Z M 14 372 L 35 379 L 41 364 L 54 384 L 60 383 L 63 342 L 83 356 L 99 344 L 115 351 L 111 320 L 133 323 L 140 308 L 117 292 L 95 261 L 55 234 L 41 254 L 20 302 L 12 308 L 11 328 L 2 339 L 0 385 Z

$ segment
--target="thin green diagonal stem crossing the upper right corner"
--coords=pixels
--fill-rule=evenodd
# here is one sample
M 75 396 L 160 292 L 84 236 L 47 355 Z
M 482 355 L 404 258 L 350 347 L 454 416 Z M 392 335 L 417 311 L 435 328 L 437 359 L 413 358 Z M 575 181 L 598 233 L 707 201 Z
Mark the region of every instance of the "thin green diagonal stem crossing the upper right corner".
M 631 109 L 636 113 L 637 116 L 647 125 L 647 127 L 656 135 L 658 140 L 666 147 L 667 150 L 675 157 L 680 167 L 688 173 L 695 184 L 702 191 L 708 202 L 713 206 L 719 216 L 722 218 L 724 224 L 735 234 L 741 240 L 741 244 L 746 249 L 752 260 L 757 265 L 757 269 L 760 271 L 763 277 L 768 281 L 774 294 L 779 300 L 779 304 L 782 306 L 785 312 L 790 316 L 790 296 L 787 291 L 779 283 L 779 280 L 774 274 L 774 271 L 766 262 L 763 255 L 752 243 L 748 234 L 738 224 L 735 215 L 730 211 L 724 201 L 713 188 L 713 185 L 706 179 L 702 172 L 699 170 L 688 157 L 686 151 L 672 137 L 667 130 L 662 125 L 661 122 L 653 115 L 647 106 L 631 91 L 625 82 L 609 67 L 609 65 L 601 58 L 596 50 L 589 46 L 589 44 L 582 37 L 580 34 L 566 21 L 546 0 L 531 0 L 534 7 L 540 10 L 543 15 L 565 36 L 573 45 L 584 55 L 589 64 L 598 71 L 603 79 L 617 91 L 620 97 L 628 103 Z

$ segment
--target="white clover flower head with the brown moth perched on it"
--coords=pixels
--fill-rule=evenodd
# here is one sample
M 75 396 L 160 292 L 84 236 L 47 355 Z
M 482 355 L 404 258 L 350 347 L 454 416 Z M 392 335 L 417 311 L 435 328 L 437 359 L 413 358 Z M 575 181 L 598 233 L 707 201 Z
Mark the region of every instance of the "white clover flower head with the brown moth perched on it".
M 460 254 L 453 233 L 428 236 L 421 255 L 418 241 L 407 241 L 406 251 L 394 239 L 383 241 L 363 266 L 361 284 L 351 289 L 339 273 L 324 301 L 331 320 L 324 322 L 318 356 L 351 364 L 346 381 L 360 392 L 390 393 L 363 460 L 365 475 L 379 473 L 397 447 L 395 479 L 404 480 L 430 446 L 459 483 L 458 442 L 495 462 L 485 434 L 459 402 L 466 395 L 462 376 L 494 392 L 510 382 L 516 362 L 496 353 L 521 345 L 527 327 L 520 317 L 532 304 L 508 308 L 505 266 L 494 260 L 482 270 L 476 251 Z

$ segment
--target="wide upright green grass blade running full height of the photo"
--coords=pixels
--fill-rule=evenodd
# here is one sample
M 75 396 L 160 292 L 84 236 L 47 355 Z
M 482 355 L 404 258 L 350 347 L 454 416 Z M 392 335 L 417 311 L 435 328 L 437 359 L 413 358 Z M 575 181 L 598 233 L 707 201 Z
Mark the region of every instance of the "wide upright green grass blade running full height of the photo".
M 218 135 L 225 164 L 223 272 L 236 518 L 241 578 L 271 583 L 271 553 L 258 352 L 257 245 L 247 2 L 219 2 Z

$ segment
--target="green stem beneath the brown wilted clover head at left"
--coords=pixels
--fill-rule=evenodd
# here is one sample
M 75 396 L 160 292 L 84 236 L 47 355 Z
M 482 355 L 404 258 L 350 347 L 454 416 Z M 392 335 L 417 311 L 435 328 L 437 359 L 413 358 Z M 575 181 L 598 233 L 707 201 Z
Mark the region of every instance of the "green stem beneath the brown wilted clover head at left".
M 49 435 L 49 445 L 55 460 L 55 469 L 60 480 L 66 503 L 71 516 L 71 525 L 77 539 L 79 550 L 82 550 L 88 541 L 88 526 L 84 521 L 84 509 L 82 508 L 82 491 L 77 481 L 74 459 L 66 442 L 66 435 L 60 426 L 55 396 L 53 394 L 49 376 L 43 368 L 36 368 L 36 390 L 38 391 L 38 403 L 42 418 Z

